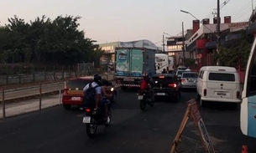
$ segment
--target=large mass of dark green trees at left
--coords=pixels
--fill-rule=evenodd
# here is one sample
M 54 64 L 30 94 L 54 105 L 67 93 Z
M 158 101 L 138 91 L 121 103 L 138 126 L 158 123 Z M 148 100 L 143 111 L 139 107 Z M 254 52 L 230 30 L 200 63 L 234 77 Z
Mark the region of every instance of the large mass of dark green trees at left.
M 3 63 L 76 64 L 99 59 L 96 41 L 78 30 L 80 17 L 43 16 L 25 23 L 14 16 L 0 27 L 0 60 Z

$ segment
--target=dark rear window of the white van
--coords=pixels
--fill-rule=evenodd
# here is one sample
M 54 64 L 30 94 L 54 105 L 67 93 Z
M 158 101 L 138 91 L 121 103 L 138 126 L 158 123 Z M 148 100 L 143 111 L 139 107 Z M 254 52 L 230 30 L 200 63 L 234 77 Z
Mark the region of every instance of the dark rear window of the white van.
M 210 73 L 209 80 L 234 82 L 235 74 Z

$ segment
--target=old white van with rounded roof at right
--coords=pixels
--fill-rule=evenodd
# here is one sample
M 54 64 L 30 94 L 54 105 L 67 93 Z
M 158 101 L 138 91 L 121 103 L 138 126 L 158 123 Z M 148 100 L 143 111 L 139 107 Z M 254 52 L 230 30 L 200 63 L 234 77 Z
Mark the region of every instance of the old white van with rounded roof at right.
M 196 89 L 201 106 L 206 101 L 241 103 L 240 77 L 232 67 L 201 67 Z

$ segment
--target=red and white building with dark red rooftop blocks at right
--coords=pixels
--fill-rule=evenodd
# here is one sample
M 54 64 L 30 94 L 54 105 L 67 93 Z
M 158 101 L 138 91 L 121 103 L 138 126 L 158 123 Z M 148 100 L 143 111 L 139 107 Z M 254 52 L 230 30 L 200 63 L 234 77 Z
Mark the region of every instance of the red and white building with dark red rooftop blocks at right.
M 220 23 L 220 35 L 217 36 L 217 18 L 210 23 L 209 18 L 202 20 L 200 27 L 199 20 L 193 20 L 192 36 L 185 44 L 185 52 L 196 59 L 197 70 L 202 66 L 215 65 L 212 53 L 217 49 L 217 37 L 222 46 L 231 46 L 242 37 L 241 30 L 248 28 L 248 22 L 232 23 L 231 17 L 224 17 L 224 23 Z

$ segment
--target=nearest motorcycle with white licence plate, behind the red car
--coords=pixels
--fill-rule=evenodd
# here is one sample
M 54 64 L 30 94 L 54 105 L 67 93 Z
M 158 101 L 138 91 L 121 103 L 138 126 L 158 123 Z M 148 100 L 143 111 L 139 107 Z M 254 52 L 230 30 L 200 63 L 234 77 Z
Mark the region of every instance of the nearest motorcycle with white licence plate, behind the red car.
M 94 107 L 86 107 L 86 116 L 83 117 L 82 123 L 86 124 L 86 134 L 92 138 L 97 133 L 98 125 L 105 125 L 108 127 L 111 124 L 111 103 L 104 97 L 103 100 L 107 100 L 107 121 L 104 120 L 106 107 L 101 105 L 97 110 Z

